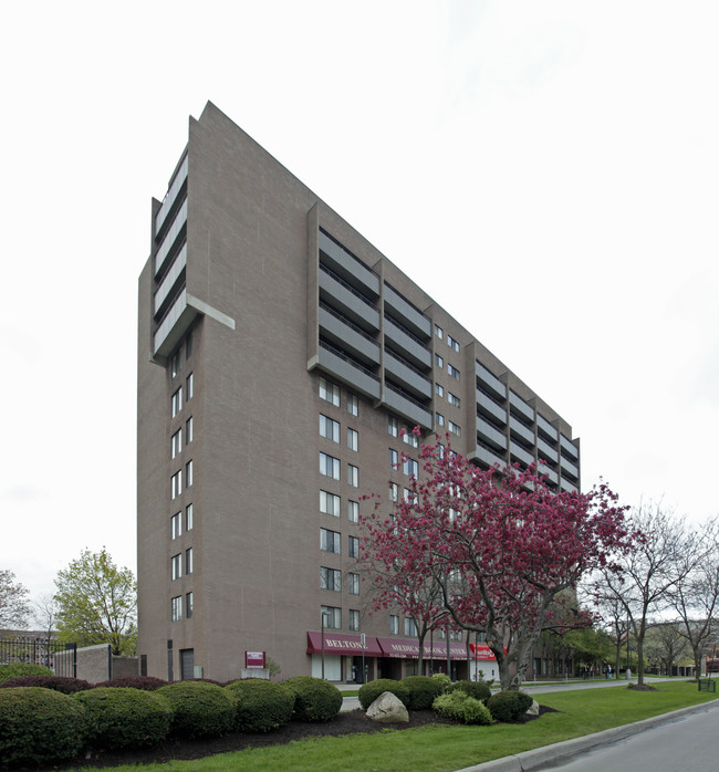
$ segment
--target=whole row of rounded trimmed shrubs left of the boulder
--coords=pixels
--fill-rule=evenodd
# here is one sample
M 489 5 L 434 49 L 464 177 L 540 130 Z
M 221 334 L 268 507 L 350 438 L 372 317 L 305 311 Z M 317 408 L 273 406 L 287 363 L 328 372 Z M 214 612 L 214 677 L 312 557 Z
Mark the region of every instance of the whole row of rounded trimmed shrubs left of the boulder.
M 284 684 L 252 678 L 226 687 L 199 680 L 159 688 L 147 681 L 133 687 L 80 681 L 75 689 L 65 682 L 74 679 L 52 675 L 14 680 L 31 685 L 0 689 L 2 768 L 61 762 L 84 748 L 143 748 L 169 734 L 268 732 L 292 718 L 329 721 L 342 707 L 335 686 L 310 677 Z

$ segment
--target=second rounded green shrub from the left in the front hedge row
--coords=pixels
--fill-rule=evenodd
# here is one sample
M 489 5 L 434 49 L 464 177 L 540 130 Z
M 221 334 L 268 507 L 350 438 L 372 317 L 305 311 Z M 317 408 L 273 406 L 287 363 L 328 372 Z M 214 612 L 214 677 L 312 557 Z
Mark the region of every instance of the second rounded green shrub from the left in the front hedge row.
M 140 689 L 96 687 L 73 695 L 85 709 L 94 748 L 140 748 L 167 737 L 173 711 L 166 700 Z

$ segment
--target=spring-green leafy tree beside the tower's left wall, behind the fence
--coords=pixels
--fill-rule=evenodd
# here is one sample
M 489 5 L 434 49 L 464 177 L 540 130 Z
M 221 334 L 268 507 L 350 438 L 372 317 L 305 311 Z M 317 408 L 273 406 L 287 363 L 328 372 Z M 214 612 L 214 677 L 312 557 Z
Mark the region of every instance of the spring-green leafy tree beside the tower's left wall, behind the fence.
M 83 550 L 58 572 L 55 586 L 61 640 L 79 646 L 111 644 L 113 654 L 135 654 L 137 583 L 129 568 L 115 565 L 105 547 Z

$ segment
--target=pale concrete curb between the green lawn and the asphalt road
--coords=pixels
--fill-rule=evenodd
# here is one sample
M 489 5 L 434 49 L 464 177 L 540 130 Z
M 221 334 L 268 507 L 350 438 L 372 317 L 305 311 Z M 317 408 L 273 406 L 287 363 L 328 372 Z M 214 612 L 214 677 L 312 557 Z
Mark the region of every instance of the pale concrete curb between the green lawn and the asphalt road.
M 598 745 L 607 745 L 617 740 L 624 740 L 632 734 L 638 734 L 660 723 L 669 723 L 684 716 L 712 708 L 719 708 L 719 700 L 701 702 L 700 705 L 692 705 L 688 708 L 679 708 L 669 713 L 654 716 L 650 719 L 644 719 L 635 723 L 625 723 L 622 727 L 605 729 L 603 732 L 595 732 L 594 734 L 586 734 L 585 737 L 574 738 L 573 740 L 565 740 L 564 742 L 555 742 L 551 745 L 534 748 L 531 751 L 507 755 L 501 759 L 494 759 L 493 761 L 486 761 L 475 766 L 465 766 L 461 770 L 457 770 L 457 772 L 528 772 L 528 770 L 539 770 L 550 764 L 566 763 L 572 757 L 590 751 Z

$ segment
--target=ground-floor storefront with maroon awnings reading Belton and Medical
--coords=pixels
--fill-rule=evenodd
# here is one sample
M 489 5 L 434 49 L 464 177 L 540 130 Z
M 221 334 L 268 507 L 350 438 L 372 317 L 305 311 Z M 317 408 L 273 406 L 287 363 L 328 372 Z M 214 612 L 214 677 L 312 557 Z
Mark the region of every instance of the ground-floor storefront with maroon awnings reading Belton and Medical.
M 312 675 L 330 681 L 364 684 L 376 678 L 449 672 L 452 680 L 489 680 L 499 676 L 497 660 L 486 644 L 425 640 L 423 674 L 417 638 L 383 638 L 308 630 Z

